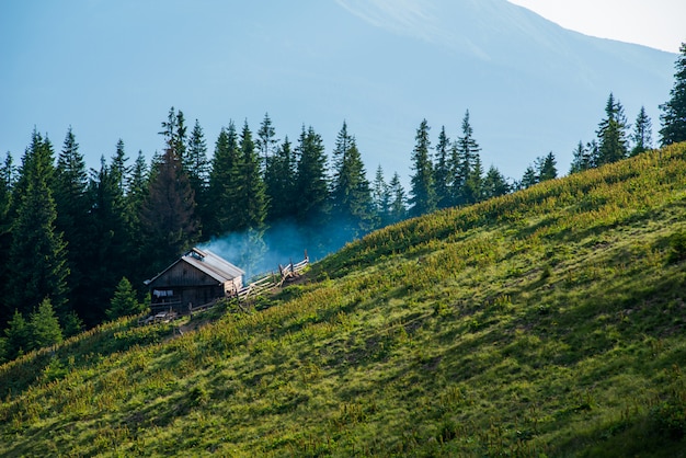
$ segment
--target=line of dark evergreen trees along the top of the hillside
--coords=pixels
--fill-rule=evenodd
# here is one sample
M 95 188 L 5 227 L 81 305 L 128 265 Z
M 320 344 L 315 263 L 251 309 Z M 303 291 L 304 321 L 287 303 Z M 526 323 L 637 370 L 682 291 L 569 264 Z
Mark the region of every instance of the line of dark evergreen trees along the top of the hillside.
M 660 106 L 663 146 L 686 140 L 686 44 L 676 70 Z M 610 93 L 596 138 L 580 141 L 570 173 L 652 148 L 643 107 L 632 127 Z M 294 142 L 281 140 L 266 114 L 254 134 L 248 122 L 222 127 L 210 157 L 198 121 L 188 129 L 172 107 L 159 133 L 163 149 L 150 162 L 139 151 L 129 163 L 118 140 L 90 171 L 71 128 L 57 154 L 34 129 L 21 164 L 8 153 L 0 167 L 0 360 L 142 310 L 142 280 L 197 243 L 240 233 L 239 259 L 229 261 L 250 270 L 265 241 L 321 255 L 408 217 L 558 176 L 552 152 L 518 181 L 494 165 L 484 171 L 469 111 L 455 140 L 442 126 L 432 146 L 430 131 L 423 119 L 405 191 L 397 172 L 386 181 L 381 165 L 368 180 L 345 122 L 330 156 L 313 127 L 302 126 Z M 285 226 L 297 242 L 283 234 Z

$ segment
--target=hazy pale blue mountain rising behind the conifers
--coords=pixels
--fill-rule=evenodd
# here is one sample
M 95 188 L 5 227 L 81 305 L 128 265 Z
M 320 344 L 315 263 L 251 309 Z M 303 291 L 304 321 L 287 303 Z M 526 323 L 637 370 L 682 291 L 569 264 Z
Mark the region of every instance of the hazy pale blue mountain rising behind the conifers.
M 441 125 L 459 135 L 467 108 L 485 167 L 519 178 L 552 150 L 567 171 L 610 91 L 630 121 L 645 105 L 659 125 L 676 57 L 504 0 L 46 3 L 15 35 L 8 76 L 26 82 L 0 91 L 12 113 L 0 137 L 24 133 L 3 147 L 16 158 L 34 125 L 57 145 L 72 125 L 93 167 L 119 137 L 150 158 L 173 105 L 209 145 L 230 118 L 256 130 L 268 112 L 279 138 L 312 125 L 331 151 L 346 119 L 368 171 L 404 180 L 422 118 L 435 142 Z

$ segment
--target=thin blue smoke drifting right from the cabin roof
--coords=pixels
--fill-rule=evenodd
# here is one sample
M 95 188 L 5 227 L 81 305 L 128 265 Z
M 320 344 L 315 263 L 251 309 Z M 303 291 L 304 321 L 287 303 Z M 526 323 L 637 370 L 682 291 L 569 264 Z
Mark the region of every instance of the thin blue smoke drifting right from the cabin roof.
M 229 233 L 201 245 L 245 271 L 245 279 L 268 273 L 278 273 L 278 266 L 305 259 L 317 261 L 341 249 L 354 239 L 345 225 L 300 226 L 291 221 L 272 225 L 262 237 L 253 230 Z

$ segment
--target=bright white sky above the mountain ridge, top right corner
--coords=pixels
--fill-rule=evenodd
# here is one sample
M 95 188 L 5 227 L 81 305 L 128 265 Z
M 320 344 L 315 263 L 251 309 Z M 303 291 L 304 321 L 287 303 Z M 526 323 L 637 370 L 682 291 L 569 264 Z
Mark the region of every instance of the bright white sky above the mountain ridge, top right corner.
M 686 0 L 508 0 L 586 35 L 677 53 Z

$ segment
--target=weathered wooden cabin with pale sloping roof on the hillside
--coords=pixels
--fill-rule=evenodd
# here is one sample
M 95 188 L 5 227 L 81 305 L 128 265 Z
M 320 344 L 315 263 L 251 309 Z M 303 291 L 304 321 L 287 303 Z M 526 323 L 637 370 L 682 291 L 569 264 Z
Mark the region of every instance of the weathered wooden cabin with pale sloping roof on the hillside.
M 245 272 L 207 251 L 194 248 L 147 282 L 152 311 L 186 313 L 213 300 L 236 295 Z

